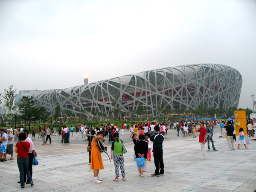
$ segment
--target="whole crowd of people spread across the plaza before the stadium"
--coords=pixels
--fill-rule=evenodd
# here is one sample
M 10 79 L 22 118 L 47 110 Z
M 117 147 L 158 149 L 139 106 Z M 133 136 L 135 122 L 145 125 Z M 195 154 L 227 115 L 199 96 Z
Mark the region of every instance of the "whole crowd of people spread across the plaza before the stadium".
M 221 127 L 221 136 L 226 138 L 230 151 L 235 150 L 234 147 L 234 126 L 232 121 L 219 122 Z M 119 181 L 119 167 L 121 170 L 122 180 L 125 178 L 125 166 L 124 156 L 125 146 L 123 141 L 119 138 L 119 135 L 124 135 L 125 131 L 130 131 L 130 134 L 126 134 L 127 137 L 131 137 L 134 145 L 134 160 L 138 158 L 144 158 L 143 166 L 138 166 L 137 170 L 140 177 L 143 177 L 146 169 L 146 162 L 151 161 L 151 142 L 153 142 L 152 152 L 154 157 L 155 171 L 151 174 L 152 177 L 159 177 L 164 175 L 164 162 L 163 162 L 163 141 L 167 139 L 168 129 L 177 131 L 177 137 L 183 134 L 183 138 L 186 139 L 189 136 L 192 138 L 197 137 L 196 132 L 199 132 L 199 143 L 201 146 L 202 156 L 201 159 L 207 159 L 206 143 L 208 151 L 211 150 L 210 142 L 213 151 L 218 151 L 214 146 L 213 133 L 214 128 L 218 124 L 216 121 L 204 120 L 199 123 L 200 128 L 197 129 L 198 122 L 190 120 L 184 121 L 172 121 L 172 122 L 143 122 L 143 123 L 128 123 L 122 124 L 121 128 L 113 123 L 102 124 L 100 127 L 94 128 L 93 125 L 77 125 L 70 128 L 66 125 L 59 126 L 58 130 L 55 127 L 51 129 L 48 126 L 41 128 L 38 126 L 38 138 L 43 140 L 43 145 L 52 143 L 51 136 L 57 136 L 61 139 L 61 143 L 70 143 L 70 135 L 73 137 L 73 132 L 76 131 L 76 138 L 81 138 L 88 141 L 87 151 L 89 152 L 89 164 L 90 169 L 93 170 L 94 183 L 101 183 L 102 178 L 99 177 L 99 170 L 104 169 L 104 165 L 101 157 L 101 149 L 99 148 L 99 140 L 104 142 L 108 138 L 108 142 L 111 143 L 111 150 L 113 151 L 113 161 L 115 167 L 115 178 L 113 181 Z M 254 137 L 253 120 L 247 120 L 247 127 L 240 128 L 239 130 L 239 144 L 237 146 L 240 149 L 240 145 L 244 145 L 248 149 L 245 139 L 248 137 Z M 121 131 L 121 130 L 122 131 Z M 58 132 L 57 132 L 58 131 Z M 244 132 L 245 131 L 245 132 Z M 35 140 L 35 129 L 31 129 L 32 140 Z M 20 186 L 24 188 L 25 184 L 34 185 L 32 180 L 32 160 L 36 156 L 35 147 L 33 141 L 28 137 L 29 131 L 24 130 L 23 127 L 13 127 L 7 129 L 7 134 L 4 129 L 0 130 L 0 160 L 4 162 L 7 160 L 6 154 L 11 155 L 9 160 L 13 160 L 13 142 L 17 141 L 15 145 L 15 153 L 17 153 L 17 165 L 20 171 Z M 247 133 L 247 134 L 245 134 Z M 13 137 L 14 135 L 14 137 Z

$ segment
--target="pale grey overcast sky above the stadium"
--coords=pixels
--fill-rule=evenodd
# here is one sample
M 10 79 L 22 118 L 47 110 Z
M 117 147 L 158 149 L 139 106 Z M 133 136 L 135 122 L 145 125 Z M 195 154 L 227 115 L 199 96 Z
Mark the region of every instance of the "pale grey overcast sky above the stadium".
M 255 0 L 0 0 L 0 93 L 183 64 L 229 65 L 256 94 Z

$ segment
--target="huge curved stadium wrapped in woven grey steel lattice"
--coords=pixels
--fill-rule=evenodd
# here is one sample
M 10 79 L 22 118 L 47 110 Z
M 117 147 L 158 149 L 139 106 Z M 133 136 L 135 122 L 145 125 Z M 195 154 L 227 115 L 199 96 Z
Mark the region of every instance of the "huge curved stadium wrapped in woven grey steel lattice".
M 67 89 L 45 90 L 33 96 L 39 106 L 53 111 L 57 104 L 74 115 L 86 111 L 108 113 L 113 101 L 123 112 L 147 109 L 155 116 L 162 103 L 170 110 L 197 108 L 204 104 L 214 108 L 238 107 L 242 86 L 241 74 L 221 64 L 192 64 L 116 77 Z M 80 111 L 80 112 L 79 112 Z M 63 112 L 63 111 L 62 111 Z

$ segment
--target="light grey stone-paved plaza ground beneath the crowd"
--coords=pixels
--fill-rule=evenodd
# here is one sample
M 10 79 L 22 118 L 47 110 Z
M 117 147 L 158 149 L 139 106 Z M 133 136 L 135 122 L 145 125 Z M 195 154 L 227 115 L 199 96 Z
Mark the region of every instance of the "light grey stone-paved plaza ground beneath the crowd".
M 176 130 L 168 130 L 163 143 L 164 176 L 151 177 L 154 173 L 154 159 L 147 162 L 147 172 L 141 178 L 134 161 L 130 132 L 120 135 L 125 143 L 124 154 L 126 181 L 112 181 L 115 177 L 113 160 L 102 153 L 104 170 L 99 171 L 102 183 L 93 183 L 93 171 L 88 165 L 87 141 L 70 137 L 70 144 L 61 144 L 58 136 L 51 137 L 52 144 L 42 145 L 41 139 L 33 140 L 38 153 L 38 166 L 33 166 L 34 186 L 20 188 L 17 155 L 15 160 L 0 162 L 1 192 L 79 192 L 79 191 L 156 191 L 156 192 L 253 192 L 256 189 L 256 141 L 250 141 L 245 149 L 228 151 L 225 138 L 219 138 L 220 128 L 214 129 L 214 144 L 218 151 L 207 151 L 207 159 L 201 160 L 198 137 L 183 135 L 177 137 Z M 37 136 L 38 134 L 36 134 Z M 197 136 L 199 133 L 197 133 Z M 31 137 L 31 135 L 30 135 Z M 252 138 L 252 137 L 250 137 Z M 16 142 L 15 142 L 16 144 Z M 108 154 L 110 153 L 110 144 Z M 152 144 L 153 146 L 153 144 Z M 236 144 L 237 147 L 237 144 Z M 153 154 L 152 154 L 153 157 Z M 9 158 L 9 155 L 7 155 Z M 121 172 L 120 172 L 121 173 Z

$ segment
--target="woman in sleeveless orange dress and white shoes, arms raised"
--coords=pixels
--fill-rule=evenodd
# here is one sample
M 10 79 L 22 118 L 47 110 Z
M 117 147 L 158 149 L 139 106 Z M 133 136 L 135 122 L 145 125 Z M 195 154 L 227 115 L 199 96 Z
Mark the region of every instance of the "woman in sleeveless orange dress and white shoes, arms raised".
M 95 139 L 102 139 L 105 140 L 103 137 L 103 131 L 99 131 L 99 135 L 94 136 Z M 99 178 L 99 169 L 104 169 L 103 163 L 102 163 L 102 157 L 99 151 L 99 145 L 97 141 L 92 140 L 91 145 L 91 167 L 90 169 L 93 169 L 94 174 L 94 181 L 93 183 L 101 183 L 102 179 Z

